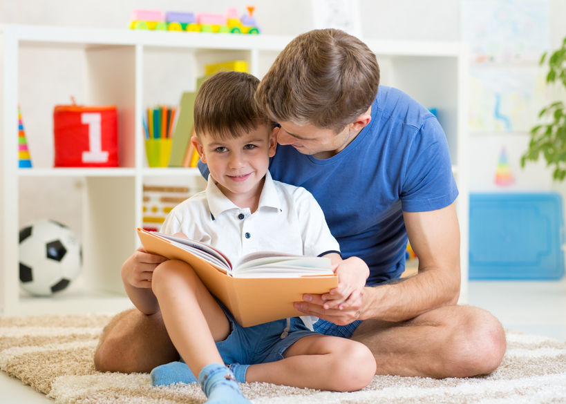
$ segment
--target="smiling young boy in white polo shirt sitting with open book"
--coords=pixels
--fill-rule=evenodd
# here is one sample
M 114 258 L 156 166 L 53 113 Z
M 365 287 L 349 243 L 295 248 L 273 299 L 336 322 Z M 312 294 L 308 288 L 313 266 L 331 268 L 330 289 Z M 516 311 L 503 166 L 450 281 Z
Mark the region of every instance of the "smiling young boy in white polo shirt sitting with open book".
M 265 250 L 327 256 L 339 276 L 339 287 L 323 295 L 327 307 L 359 301 L 367 265 L 355 257 L 341 260 L 312 195 L 272 180 L 267 171 L 278 128 L 254 101 L 257 86 L 258 79 L 236 72 L 202 84 L 192 141 L 210 170 L 207 189 L 176 206 L 162 231 L 212 244 L 229 258 Z M 156 385 L 196 381 L 194 374 L 210 403 L 248 403 L 236 381 L 351 391 L 375 374 L 365 345 L 317 334 L 301 318 L 241 327 L 185 262 L 138 251 L 124 263 L 122 279 L 142 313 L 161 311 L 188 365 L 153 369 Z

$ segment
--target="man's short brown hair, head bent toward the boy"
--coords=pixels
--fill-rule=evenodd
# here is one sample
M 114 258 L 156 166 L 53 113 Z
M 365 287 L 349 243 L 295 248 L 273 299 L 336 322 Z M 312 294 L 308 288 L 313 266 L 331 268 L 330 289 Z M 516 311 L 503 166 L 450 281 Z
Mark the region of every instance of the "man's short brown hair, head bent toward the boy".
M 256 99 L 276 122 L 342 131 L 366 112 L 379 87 L 379 65 L 364 42 L 335 29 L 293 39 L 263 77 Z

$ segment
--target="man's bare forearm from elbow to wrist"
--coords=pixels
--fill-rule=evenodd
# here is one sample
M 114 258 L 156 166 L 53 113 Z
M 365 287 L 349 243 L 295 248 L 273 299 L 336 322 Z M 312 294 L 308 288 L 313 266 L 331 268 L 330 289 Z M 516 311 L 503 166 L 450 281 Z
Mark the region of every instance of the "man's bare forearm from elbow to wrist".
M 415 276 L 366 287 L 360 320 L 409 320 L 435 307 L 453 305 L 460 296 L 460 277 L 446 277 L 435 269 Z

